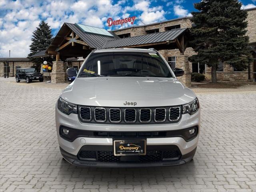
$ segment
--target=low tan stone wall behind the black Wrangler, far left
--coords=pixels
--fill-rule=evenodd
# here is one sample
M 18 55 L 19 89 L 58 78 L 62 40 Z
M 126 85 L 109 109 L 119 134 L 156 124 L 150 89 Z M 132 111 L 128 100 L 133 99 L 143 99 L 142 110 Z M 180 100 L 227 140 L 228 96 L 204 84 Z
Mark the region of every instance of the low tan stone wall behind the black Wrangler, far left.
M 9 77 L 12 77 L 12 69 L 14 69 L 14 76 L 16 74 L 16 66 L 20 66 L 21 68 L 30 68 L 33 66 L 33 62 L 28 62 L 28 61 L 9 61 L 9 66 L 10 66 L 10 73 Z M 0 61 L 0 77 L 4 76 L 4 62 Z

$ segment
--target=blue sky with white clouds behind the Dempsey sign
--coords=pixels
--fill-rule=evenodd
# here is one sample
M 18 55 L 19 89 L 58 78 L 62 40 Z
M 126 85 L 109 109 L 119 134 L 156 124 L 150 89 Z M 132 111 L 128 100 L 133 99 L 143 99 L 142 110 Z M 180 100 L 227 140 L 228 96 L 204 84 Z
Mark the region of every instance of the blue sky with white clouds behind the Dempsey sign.
M 55 35 L 64 22 L 109 28 L 106 21 L 136 16 L 134 25 L 190 16 L 200 0 L 0 0 L 0 57 L 11 50 L 12 57 L 30 52 L 32 32 L 45 20 Z M 240 0 L 242 8 L 256 6 L 256 0 Z M 142 23 L 143 22 L 143 23 Z M 130 23 L 122 28 L 131 26 Z

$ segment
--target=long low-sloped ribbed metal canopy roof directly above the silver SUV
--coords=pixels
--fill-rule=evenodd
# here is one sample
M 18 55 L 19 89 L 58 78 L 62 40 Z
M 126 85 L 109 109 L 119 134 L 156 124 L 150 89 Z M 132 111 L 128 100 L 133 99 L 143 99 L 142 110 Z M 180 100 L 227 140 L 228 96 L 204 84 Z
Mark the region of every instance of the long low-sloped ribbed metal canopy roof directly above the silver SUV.
M 188 28 L 107 41 L 102 48 L 126 47 L 174 40 Z

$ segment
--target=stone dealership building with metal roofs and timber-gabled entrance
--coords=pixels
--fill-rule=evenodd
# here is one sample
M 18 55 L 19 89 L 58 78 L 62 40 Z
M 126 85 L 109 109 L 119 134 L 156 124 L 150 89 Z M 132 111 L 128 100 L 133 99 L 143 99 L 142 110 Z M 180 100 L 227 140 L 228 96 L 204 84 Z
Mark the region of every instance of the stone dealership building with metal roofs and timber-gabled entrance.
M 256 79 L 256 8 L 248 12 L 247 36 L 254 61 L 248 69 L 240 71 L 237 68 L 220 63 L 218 80 L 255 80 Z M 92 50 L 98 48 L 154 48 L 168 61 L 171 68 L 182 68 L 185 74 L 178 77 L 186 86 L 191 86 L 191 73 L 211 73 L 211 69 L 200 63 L 191 63 L 188 57 L 196 54 L 189 47 L 189 28 L 193 26 L 191 17 L 182 17 L 152 24 L 131 26 L 113 31 L 86 26 L 82 24 L 64 23 L 47 50 L 38 52 L 33 57 L 47 60 L 54 56 L 52 70 L 44 74 L 49 76 L 53 83 L 62 83 L 66 80 L 68 67 L 80 68 L 81 60 Z M 0 75 L 4 74 L 4 64 L 10 66 L 9 76 L 15 76 L 15 69 L 32 64 L 25 58 L 0 58 Z

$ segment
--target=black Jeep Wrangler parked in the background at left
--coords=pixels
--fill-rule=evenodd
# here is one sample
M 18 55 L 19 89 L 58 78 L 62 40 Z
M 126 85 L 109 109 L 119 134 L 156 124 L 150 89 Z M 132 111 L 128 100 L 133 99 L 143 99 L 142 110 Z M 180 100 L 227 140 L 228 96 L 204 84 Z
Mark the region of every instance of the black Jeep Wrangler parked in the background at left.
M 32 80 L 43 82 L 44 77 L 41 73 L 36 72 L 35 68 L 18 68 L 16 69 L 16 82 L 18 83 L 20 80 L 26 80 L 27 83 Z

